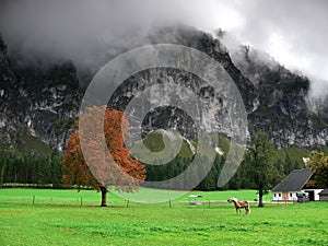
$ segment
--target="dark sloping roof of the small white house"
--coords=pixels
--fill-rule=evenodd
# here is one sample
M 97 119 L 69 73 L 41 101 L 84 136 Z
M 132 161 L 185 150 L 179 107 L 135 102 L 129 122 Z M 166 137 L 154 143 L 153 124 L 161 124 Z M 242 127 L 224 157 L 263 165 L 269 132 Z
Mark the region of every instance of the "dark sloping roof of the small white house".
M 297 191 L 302 190 L 304 185 L 314 174 L 313 171 L 303 168 L 294 169 L 280 184 L 278 184 L 272 191 Z

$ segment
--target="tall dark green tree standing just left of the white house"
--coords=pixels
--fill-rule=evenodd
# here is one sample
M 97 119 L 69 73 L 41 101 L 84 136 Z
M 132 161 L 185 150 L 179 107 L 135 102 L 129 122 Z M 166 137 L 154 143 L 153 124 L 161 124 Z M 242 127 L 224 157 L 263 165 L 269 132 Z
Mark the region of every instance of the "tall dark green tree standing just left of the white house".
M 269 136 L 265 131 L 258 131 L 251 137 L 251 141 L 245 154 L 245 168 L 247 177 L 258 190 L 258 207 L 263 207 L 262 197 L 271 188 L 277 179 L 278 171 L 274 165 L 274 147 L 270 143 Z

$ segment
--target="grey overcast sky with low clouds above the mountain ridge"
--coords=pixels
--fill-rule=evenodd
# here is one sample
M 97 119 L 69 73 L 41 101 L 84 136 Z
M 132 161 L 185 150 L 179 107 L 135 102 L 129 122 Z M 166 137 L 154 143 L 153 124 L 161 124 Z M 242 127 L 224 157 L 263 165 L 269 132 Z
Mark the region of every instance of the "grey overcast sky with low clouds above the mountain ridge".
M 0 0 L 0 33 L 23 56 L 93 62 L 108 45 L 142 36 L 153 24 L 221 27 L 286 68 L 328 87 L 326 0 Z

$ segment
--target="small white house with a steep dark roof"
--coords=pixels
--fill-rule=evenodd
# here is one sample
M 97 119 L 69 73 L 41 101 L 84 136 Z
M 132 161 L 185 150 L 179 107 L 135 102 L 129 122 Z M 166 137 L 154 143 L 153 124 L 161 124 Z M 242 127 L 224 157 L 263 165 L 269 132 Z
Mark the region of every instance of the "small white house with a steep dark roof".
M 314 172 L 308 168 L 294 169 L 289 176 L 286 176 L 272 189 L 272 201 L 295 202 L 300 200 L 300 194 L 305 194 L 307 196 L 306 200 L 318 201 L 318 194 L 323 189 L 305 187 L 306 183 L 311 179 L 313 174 Z M 305 201 L 305 199 L 302 199 L 302 201 Z

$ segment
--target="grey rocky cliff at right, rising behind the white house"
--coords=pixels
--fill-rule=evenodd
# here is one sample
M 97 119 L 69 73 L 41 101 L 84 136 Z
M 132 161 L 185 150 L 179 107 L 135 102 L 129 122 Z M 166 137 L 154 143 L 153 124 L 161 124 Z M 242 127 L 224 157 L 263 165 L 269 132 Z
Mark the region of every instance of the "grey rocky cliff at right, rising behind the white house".
M 309 109 L 307 78 L 290 72 L 268 55 L 241 46 L 232 59 L 258 90 L 259 105 L 249 114 L 250 130 L 263 129 L 277 147 L 327 145 L 327 108 Z

